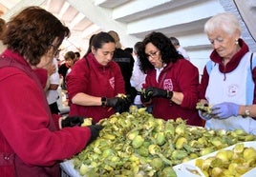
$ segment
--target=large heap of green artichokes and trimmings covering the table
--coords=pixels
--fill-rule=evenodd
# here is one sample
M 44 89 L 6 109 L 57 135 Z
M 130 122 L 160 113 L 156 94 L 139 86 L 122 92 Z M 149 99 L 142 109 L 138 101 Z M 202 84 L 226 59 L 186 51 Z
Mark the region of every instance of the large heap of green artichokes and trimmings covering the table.
M 114 114 L 98 124 L 99 137 L 73 157 L 81 176 L 176 176 L 173 166 L 238 142 L 256 140 L 241 129 L 207 130 L 181 118 L 164 121 L 145 108 Z

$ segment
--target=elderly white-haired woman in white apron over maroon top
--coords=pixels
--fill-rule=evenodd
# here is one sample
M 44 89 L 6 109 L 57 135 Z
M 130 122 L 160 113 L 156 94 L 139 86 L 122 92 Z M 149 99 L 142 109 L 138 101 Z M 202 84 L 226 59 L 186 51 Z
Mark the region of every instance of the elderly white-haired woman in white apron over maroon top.
M 213 48 L 200 85 L 200 103 L 211 107 L 210 113 L 200 111 L 205 127 L 256 134 L 255 112 L 250 113 L 256 106 L 256 56 L 240 38 L 238 19 L 219 13 L 205 23 L 204 31 Z

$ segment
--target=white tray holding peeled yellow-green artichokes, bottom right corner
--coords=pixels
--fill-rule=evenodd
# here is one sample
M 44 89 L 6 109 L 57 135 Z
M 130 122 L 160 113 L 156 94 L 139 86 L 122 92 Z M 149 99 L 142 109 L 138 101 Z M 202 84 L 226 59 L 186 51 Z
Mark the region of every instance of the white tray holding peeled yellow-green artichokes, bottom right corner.
M 245 145 L 245 147 L 254 147 L 256 148 L 256 141 L 251 142 L 244 142 L 242 143 Z M 233 149 L 235 145 L 230 147 L 225 147 L 224 149 Z M 218 150 L 219 151 L 219 150 Z M 197 159 L 206 159 L 207 157 L 211 157 L 216 155 L 218 151 L 214 151 L 212 153 L 209 153 L 207 155 L 203 155 L 202 157 L 199 157 Z M 197 159 L 188 161 L 186 163 L 179 164 L 174 167 L 174 170 L 176 171 L 176 174 L 178 177 L 205 177 L 203 175 L 203 172 L 199 167 L 195 166 L 195 162 Z M 193 173 L 193 171 L 196 170 L 198 174 Z M 253 169 L 247 171 L 242 177 L 256 177 L 256 167 Z

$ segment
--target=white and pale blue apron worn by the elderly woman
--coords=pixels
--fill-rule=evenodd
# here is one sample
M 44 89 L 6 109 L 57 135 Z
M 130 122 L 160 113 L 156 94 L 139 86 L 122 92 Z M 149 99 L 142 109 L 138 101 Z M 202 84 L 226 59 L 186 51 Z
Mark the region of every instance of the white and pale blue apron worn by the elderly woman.
M 250 70 L 250 52 L 242 58 L 238 67 L 229 73 L 221 73 L 219 65 L 213 66 L 209 73 L 209 83 L 205 97 L 210 106 L 223 102 L 238 105 L 251 105 L 254 83 Z M 247 133 L 256 134 L 256 121 L 251 117 L 231 116 L 226 119 L 210 119 L 205 128 L 234 130 L 244 129 Z

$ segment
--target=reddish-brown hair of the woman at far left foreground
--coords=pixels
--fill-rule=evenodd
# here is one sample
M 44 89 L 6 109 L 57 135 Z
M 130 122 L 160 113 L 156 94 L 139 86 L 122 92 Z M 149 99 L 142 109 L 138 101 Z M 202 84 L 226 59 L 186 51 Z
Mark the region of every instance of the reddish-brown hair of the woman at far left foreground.
M 29 7 L 8 22 L 3 43 L 35 66 L 40 62 L 41 56 L 51 48 L 55 38 L 58 48 L 69 35 L 70 30 L 51 12 L 39 7 Z

